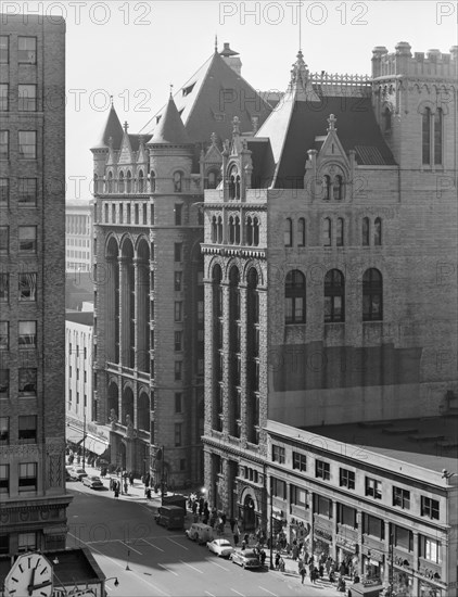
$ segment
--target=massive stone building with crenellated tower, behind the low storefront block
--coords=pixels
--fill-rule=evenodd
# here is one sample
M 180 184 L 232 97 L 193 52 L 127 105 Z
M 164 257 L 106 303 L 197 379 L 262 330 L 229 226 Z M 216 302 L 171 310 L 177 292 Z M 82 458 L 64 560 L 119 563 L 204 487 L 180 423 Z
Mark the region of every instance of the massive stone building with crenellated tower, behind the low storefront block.
M 456 72 L 376 48 L 372 76 L 308 72 L 205 192 L 205 484 L 267 523 L 267 419 L 435 417 L 456 395 Z

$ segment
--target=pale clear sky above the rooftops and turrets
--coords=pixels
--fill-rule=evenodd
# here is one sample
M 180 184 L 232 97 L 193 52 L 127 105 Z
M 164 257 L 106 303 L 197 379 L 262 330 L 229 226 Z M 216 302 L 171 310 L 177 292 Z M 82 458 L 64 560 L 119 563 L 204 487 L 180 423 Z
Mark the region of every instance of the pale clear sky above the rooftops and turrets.
M 372 49 L 412 52 L 457 43 L 457 4 L 438 1 L 309 2 L 301 9 L 302 50 L 311 72 L 370 74 Z M 260 90 L 284 90 L 300 45 L 298 1 L 162 0 L 0 2 L 1 12 L 66 17 L 67 199 L 89 199 L 92 154 L 110 107 L 138 132 L 229 41 L 242 75 Z M 78 191 L 75 177 L 85 177 Z M 78 196 L 79 195 L 79 196 Z

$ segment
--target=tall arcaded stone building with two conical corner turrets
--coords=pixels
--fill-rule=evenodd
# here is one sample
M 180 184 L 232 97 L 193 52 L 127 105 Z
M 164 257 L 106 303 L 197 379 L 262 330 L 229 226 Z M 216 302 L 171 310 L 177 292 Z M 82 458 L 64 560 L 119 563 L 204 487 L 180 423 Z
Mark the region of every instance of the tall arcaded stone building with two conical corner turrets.
M 112 106 L 94 162 L 94 394 L 111 460 L 168 484 L 203 478 L 204 188 L 217 144 L 240 114 L 244 130 L 270 106 L 225 45 L 150 120 L 128 132 Z

